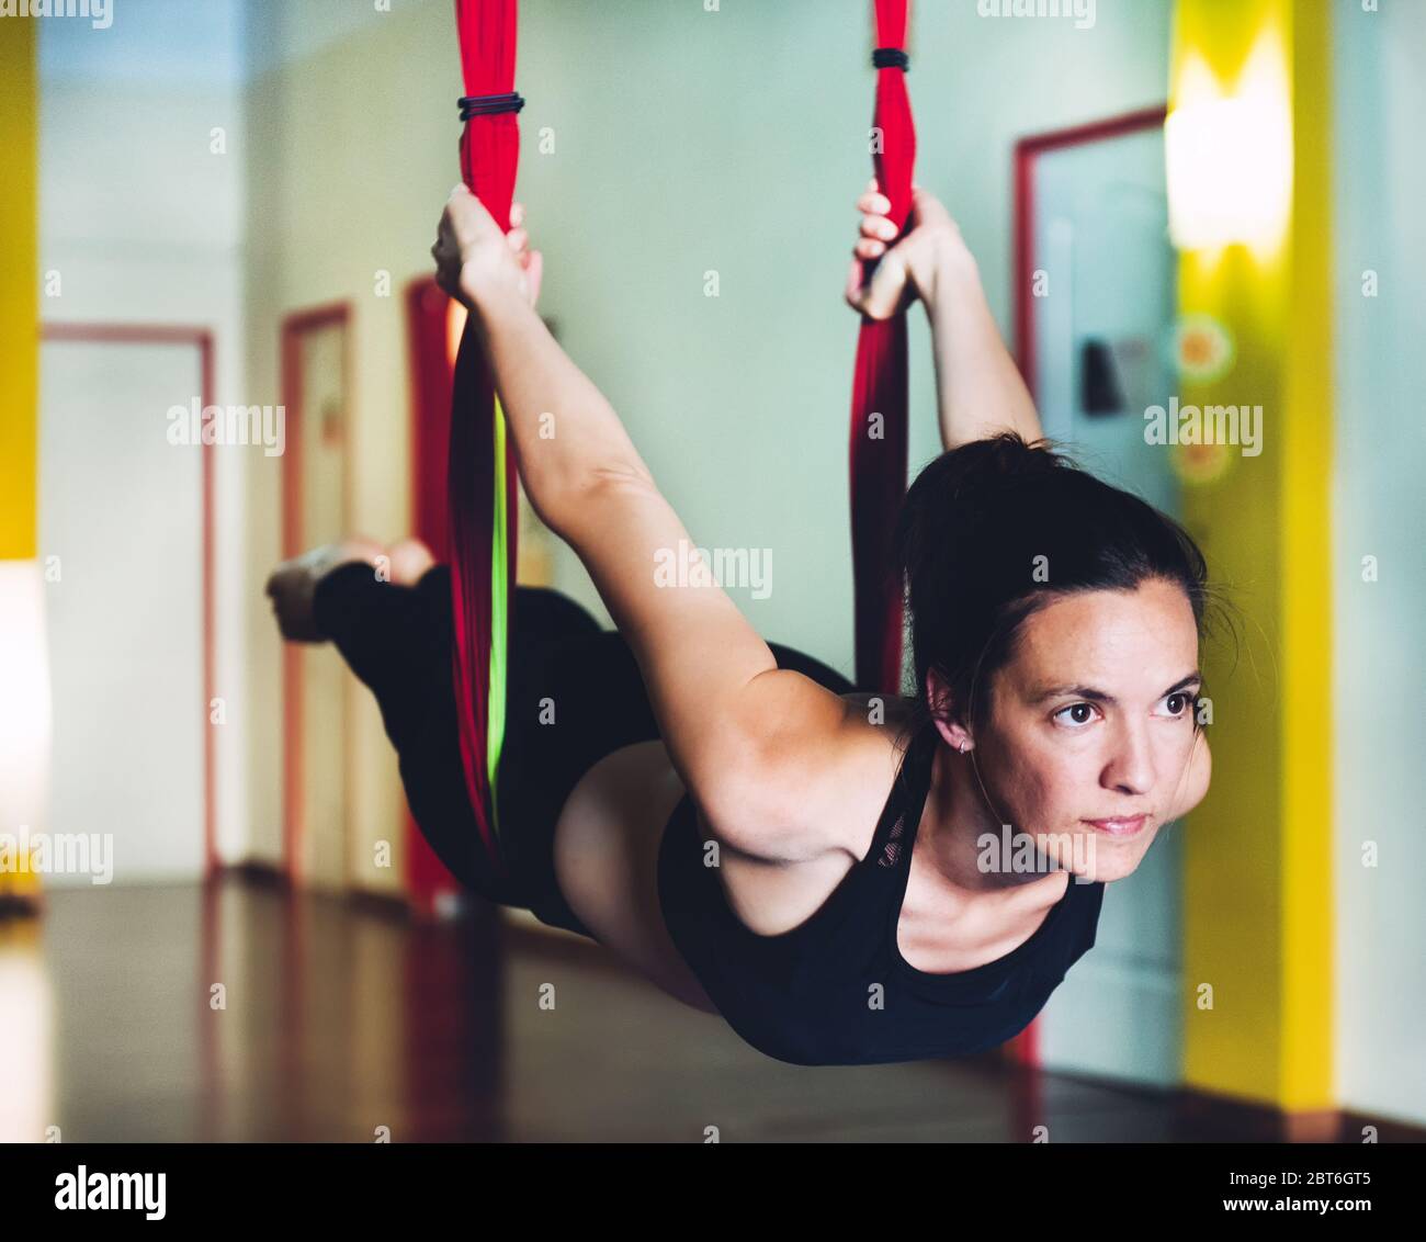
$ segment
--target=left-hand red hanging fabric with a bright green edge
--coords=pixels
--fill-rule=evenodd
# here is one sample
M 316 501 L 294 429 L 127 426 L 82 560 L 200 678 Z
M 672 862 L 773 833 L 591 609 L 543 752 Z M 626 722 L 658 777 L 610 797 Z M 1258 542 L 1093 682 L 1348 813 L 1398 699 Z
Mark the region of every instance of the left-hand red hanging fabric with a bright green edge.
M 466 96 L 515 90 L 516 0 L 455 0 Z M 466 187 L 505 231 L 511 227 L 520 131 L 516 113 L 473 116 L 461 135 Z M 495 773 L 503 734 L 505 650 L 513 623 L 519 483 L 493 379 L 466 325 L 455 364 L 448 479 L 452 676 L 466 791 L 489 860 L 506 874 L 498 847 Z M 501 495 L 503 492 L 503 495 Z M 495 702 L 492 717 L 491 704 Z

